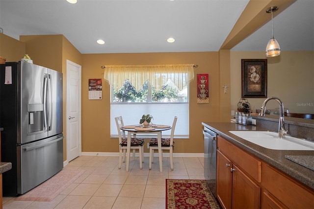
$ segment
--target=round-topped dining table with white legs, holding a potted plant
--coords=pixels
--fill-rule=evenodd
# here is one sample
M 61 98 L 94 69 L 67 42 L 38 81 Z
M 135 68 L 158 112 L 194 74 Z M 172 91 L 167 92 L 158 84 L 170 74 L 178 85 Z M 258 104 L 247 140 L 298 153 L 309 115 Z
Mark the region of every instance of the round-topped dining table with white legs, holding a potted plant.
M 157 134 L 157 143 L 158 143 L 158 157 L 159 157 L 159 170 L 162 172 L 162 152 L 161 152 L 161 132 L 171 129 L 171 126 L 168 125 L 150 125 L 148 127 L 139 126 L 139 125 L 130 125 L 120 127 L 123 131 L 128 131 L 128 142 L 127 142 L 127 171 L 129 171 L 130 164 L 130 151 L 131 151 L 131 135 L 132 134 Z M 153 156 L 154 157 L 154 156 Z M 142 160 L 140 160 L 140 164 Z M 140 167 L 142 167 L 140 165 Z

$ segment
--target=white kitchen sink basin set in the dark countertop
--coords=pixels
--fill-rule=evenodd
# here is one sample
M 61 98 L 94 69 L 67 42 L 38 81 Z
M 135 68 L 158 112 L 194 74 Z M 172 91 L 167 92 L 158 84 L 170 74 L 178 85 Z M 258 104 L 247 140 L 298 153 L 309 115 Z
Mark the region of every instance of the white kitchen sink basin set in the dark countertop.
M 286 135 L 278 138 L 272 131 L 229 131 L 249 142 L 272 150 L 314 150 L 314 142 Z

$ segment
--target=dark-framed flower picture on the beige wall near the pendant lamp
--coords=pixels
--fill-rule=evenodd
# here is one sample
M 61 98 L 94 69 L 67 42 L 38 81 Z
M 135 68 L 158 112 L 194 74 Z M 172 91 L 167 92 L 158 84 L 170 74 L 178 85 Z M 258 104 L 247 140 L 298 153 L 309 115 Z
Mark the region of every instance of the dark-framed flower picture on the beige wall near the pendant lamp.
M 267 59 L 241 59 L 242 98 L 267 98 Z

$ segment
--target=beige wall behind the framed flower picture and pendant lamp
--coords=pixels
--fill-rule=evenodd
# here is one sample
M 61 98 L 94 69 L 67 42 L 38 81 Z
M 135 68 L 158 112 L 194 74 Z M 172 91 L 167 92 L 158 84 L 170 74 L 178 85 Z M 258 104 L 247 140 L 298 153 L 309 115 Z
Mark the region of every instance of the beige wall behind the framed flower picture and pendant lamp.
M 265 59 L 265 52 L 231 52 L 231 109 L 241 98 L 241 59 Z M 314 113 L 314 52 L 282 52 L 267 59 L 267 97 L 282 100 L 294 113 Z M 265 98 L 248 98 L 251 108 L 260 109 Z M 303 105 L 302 105 L 303 104 Z M 304 105 L 305 104 L 305 105 Z M 271 101 L 267 109 L 278 108 Z

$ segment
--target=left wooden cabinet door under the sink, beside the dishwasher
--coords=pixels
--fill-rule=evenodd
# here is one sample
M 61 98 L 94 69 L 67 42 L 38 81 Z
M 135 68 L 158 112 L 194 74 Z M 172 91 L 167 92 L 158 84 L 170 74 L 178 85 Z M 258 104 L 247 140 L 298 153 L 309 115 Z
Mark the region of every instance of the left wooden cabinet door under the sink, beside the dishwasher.
M 231 209 L 232 162 L 217 150 L 217 199 L 225 209 Z

